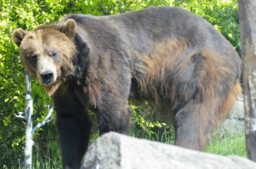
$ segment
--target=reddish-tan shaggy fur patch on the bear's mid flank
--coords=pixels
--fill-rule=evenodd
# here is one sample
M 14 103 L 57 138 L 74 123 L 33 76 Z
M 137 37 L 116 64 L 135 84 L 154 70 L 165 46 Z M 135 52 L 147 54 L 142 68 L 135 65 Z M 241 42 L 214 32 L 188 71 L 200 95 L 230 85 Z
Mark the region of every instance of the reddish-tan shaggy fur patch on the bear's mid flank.
M 166 81 L 165 71 L 172 70 L 180 62 L 182 56 L 189 55 L 189 53 L 185 39 L 169 40 L 161 44 L 152 42 L 151 49 L 149 52 L 150 57 L 140 56 L 144 63 L 140 65 L 140 68 L 146 71 L 146 75 L 143 79 L 137 79 L 137 81 L 145 94 L 154 93 L 156 102 L 159 102 L 158 93 L 152 84 L 158 81 L 159 76 L 159 81 Z M 166 96 L 170 95 L 174 90 L 175 86 L 169 86 L 169 83 L 166 83 L 165 86 L 161 84 L 161 92 Z M 174 100 L 175 94 L 172 93 L 171 97 Z

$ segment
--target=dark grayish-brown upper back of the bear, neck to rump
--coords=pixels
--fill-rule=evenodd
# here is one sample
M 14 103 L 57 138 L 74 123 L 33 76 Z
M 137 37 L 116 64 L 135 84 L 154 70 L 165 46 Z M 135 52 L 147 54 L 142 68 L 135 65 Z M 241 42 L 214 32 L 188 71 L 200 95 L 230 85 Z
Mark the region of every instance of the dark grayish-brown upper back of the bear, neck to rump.
M 70 14 L 64 21 L 68 19 L 75 20 L 78 31 L 85 31 L 89 39 L 121 39 L 125 45 L 143 53 L 147 53 L 152 41 L 186 39 L 192 48 L 211 46 L 216 51 L 228 48 L 236 55 L 232 45 L 207 20 L 183 8 L 151 7 L 102 17 Z

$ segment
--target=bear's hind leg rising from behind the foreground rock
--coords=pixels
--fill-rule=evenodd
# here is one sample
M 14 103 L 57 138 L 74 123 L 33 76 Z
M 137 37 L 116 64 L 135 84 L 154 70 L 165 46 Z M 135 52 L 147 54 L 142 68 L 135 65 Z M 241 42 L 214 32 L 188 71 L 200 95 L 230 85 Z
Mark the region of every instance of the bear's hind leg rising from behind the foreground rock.
M 194 101 L 180 108 L 175 115 L 175 145 L 204 150 L 207 136 L 214 126 L 210 113 L 212 112 L 208 112 L 207 105 Z

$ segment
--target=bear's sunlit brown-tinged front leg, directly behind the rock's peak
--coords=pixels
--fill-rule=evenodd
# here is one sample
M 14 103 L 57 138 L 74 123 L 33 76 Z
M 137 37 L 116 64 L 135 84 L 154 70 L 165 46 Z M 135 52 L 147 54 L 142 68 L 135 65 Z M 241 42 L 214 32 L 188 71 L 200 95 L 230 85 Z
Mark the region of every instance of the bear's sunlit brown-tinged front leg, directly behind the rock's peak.
M 98 104 L 93 107 L 97 115 L 100 135 L 109 131 L 129 135 L 131 114 L 130 106 L 127 104 L 129 85 L 128 81 L 122 84 L 122 87 L 115 86 L 113 89 L 101 91 Z

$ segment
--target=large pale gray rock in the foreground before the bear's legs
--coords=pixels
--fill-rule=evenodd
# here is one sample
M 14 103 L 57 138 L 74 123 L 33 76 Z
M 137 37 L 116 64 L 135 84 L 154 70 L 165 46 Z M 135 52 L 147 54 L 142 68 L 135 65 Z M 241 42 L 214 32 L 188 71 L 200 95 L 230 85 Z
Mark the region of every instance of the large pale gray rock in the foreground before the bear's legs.
M 115 132 L 89 147 L 81 169 L 255 169 L 256 163 L 184 149 Z

